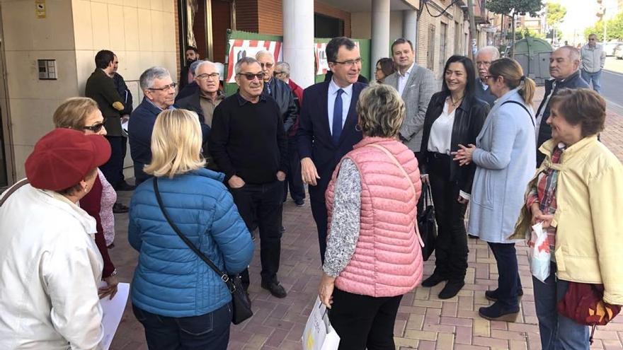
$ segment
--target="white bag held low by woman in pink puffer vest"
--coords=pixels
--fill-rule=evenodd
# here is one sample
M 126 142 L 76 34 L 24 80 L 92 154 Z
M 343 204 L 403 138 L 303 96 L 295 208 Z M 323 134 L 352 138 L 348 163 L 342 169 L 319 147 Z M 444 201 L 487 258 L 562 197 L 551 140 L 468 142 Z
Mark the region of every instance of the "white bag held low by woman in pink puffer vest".
M 326 306 L 320 303 L 319 297 L 311 309 L 301 342 L 303 350 L 337 350 L 340 345 L 340 337 L 328 322 Z

